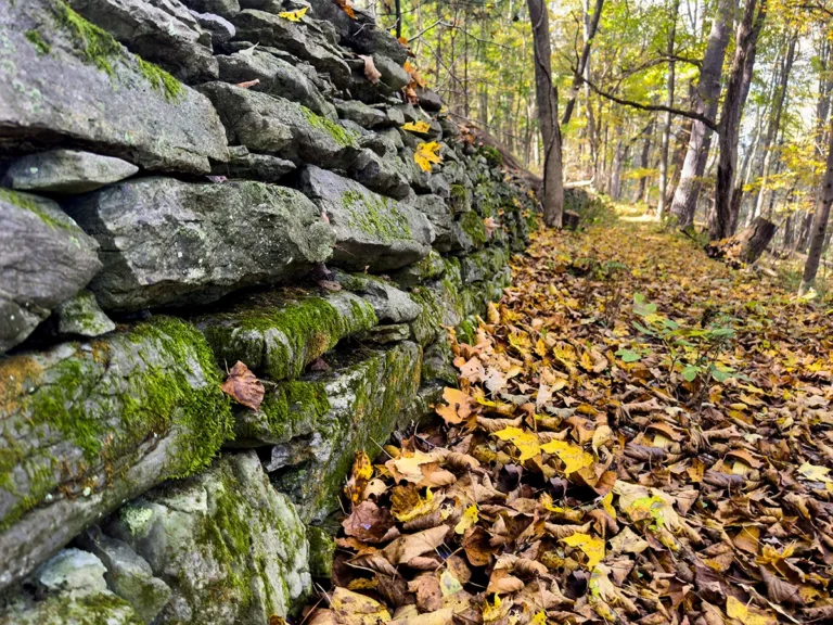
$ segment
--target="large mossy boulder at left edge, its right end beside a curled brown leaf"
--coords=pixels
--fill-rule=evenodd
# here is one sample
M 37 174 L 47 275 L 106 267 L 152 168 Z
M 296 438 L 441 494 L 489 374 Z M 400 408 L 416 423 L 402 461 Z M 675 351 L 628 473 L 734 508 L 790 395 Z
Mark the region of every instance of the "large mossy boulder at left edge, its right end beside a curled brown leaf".
M 214 356 L 178 319 L 0 359 L 0 588 L 232 433 Z

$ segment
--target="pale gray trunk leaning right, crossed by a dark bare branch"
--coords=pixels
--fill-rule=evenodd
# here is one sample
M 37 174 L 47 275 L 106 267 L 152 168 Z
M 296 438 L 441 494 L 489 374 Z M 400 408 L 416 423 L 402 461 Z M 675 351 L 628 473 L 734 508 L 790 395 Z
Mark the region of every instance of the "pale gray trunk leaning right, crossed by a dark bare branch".
M 696 91 L 697 113 L 715 119 L 720 98 L 720 77 L 723 69 L 726 48 L 732 28 L 732 14 L 736 0 L 719 0 L 717 14 L 712 23 L 706 54 L 703 56 L 703 69 Z M 697 196 L 702 186 L 706 160 L 712 146 L 712 130 L 702 122 L 693 122 L 689 137 L 689 149 L 680 171 L 680 181 L 671 202 L 671 214 L 680 228 L 688 228 L 694 221 Z

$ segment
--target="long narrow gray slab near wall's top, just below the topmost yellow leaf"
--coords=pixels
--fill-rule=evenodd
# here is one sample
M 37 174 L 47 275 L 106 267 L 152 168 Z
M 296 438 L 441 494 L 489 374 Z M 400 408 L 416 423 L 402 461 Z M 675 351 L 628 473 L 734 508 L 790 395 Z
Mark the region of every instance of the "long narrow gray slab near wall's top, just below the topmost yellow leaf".
M 350 68 L 341 51 L 320 30 L 308 27 L 306 18 L 291 22 L 272 13 L 247 9 L 234 16 L 234 25 L 238 38 L 286 50 L 328 74 L 339 89 L 349 87 Z

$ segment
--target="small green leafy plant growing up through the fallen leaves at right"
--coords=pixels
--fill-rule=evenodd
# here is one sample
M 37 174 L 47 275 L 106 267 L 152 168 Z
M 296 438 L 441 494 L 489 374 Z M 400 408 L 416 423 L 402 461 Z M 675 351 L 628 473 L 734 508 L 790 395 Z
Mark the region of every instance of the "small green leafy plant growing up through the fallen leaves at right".
M 632 310 L 642 318 L 642 322 L 633 321 L 633 327 L 658 340 L 665 347 L 669 383 L 674 385 L 676 375 L 693 383 L 697 388 L 693 397 L 695 401 L 703 398 L 708 380 L 725 382 L 739 377 L 734 370 L 720 363 L 721 355 L 735 336 L 733 318 L 712 311 L 703 317 L 701 327 L 687 328 L 661 315 L 656 304 L 648 302 L 641 293 L 635 294 Z M 628 352 L 621 354 L 626 362 L 639 359 L 636 352 Z

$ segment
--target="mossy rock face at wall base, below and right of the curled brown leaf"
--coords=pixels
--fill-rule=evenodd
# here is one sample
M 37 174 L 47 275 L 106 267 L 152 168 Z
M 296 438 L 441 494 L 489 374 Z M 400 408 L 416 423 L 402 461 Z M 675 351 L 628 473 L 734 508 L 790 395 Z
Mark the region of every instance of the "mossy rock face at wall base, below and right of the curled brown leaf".
M 319 398 L 312 435 L 277 445 L 267 471 L 280 471 L 273 482 L 296 502 L 305 522 L 321 521 L 338 508 L 356 451 L 386 441 L 409 419 L 421 361 L 422 349 L 406 341 L 387 349 L 333 354 L 331 371 L 294 383 Z

